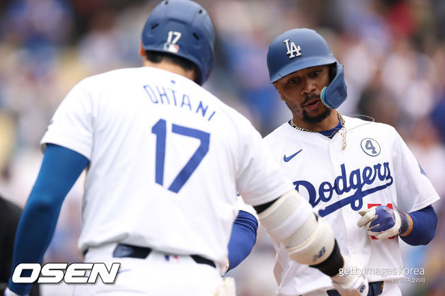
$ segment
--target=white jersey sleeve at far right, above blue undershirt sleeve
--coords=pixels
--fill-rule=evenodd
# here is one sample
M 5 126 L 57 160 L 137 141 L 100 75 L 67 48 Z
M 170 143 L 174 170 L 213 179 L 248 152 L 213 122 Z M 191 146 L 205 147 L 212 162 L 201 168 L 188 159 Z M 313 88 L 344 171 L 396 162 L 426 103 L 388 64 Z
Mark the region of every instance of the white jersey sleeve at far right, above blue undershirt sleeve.
M 394 139 L 392 160 L 397 206 L 406 213 L 418 211 L 439 200 L 439 195 L 402 137 L 396 129 L 390 129 Z

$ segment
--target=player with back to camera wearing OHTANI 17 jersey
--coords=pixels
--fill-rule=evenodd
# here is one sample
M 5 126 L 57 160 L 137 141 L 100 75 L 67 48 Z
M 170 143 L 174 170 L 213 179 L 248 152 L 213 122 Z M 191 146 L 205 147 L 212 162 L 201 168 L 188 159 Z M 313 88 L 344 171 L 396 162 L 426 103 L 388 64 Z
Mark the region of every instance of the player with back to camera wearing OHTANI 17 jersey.
M 13 268 L 42 262 L 64 197 L 85 168 L 79 252 L 87 263 L 120 263 L 120 270 L 114 284 L 79 284 L 75 295 L 224 291 L 220 269 L 237 191 L 292 260 L 328 275 L 351 262 L 251 123 L 201 87 L 213 46 L 212 21 L 200 5 L 163 1 L 142 31 L 142 67 L 75 85 L 42 138 Z M 342 295 L 368 291 L 364 277 L 333 280 Z M 27 295 L 29 286 L 10 280 L 5 295 Z

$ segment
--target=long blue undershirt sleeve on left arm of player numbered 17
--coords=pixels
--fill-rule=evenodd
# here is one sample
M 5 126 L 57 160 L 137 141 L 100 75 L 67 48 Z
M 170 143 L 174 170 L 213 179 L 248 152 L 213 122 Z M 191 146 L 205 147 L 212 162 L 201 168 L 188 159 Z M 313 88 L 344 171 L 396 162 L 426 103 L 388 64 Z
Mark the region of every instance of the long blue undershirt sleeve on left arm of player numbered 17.
M 62 146 L 48 144 L 40 172 L 18 222 L 12 258 L 12 273 L 19 263 L 41 263 L 53 237 L 60 208 L 68 191 L 88 165 L 83 155 Z M 27 270 L 22 275 L 29 276 Z M 27 295 L 31 284 L 14 284 L 11 291 Z

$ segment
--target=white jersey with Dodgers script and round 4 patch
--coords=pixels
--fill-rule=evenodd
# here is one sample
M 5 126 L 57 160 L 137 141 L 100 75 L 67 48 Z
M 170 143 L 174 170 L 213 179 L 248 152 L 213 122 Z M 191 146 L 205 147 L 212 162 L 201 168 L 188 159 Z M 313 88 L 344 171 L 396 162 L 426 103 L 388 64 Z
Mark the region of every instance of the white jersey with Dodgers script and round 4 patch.
M 342 254 L 366 267 L 370 282 L 401 278 L 398 237 L 372 239 L 357 227 L 360 208 L 383 204 L 418 211 L 439 199 L 431 182 L 396 130 L 387 124 L 343 116 L 346 148 L 340 133 L 332 139 L 298 131 L 285 123 L 264 138 L 295 189 L 333 228 Z M 279 295 L 303 295 L 333 288 L 331 279 L 277 251 L 275 278 Z M 390 274 L 388 274 L 390 273 Z

